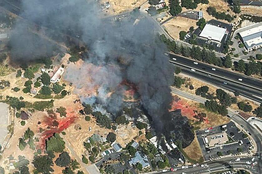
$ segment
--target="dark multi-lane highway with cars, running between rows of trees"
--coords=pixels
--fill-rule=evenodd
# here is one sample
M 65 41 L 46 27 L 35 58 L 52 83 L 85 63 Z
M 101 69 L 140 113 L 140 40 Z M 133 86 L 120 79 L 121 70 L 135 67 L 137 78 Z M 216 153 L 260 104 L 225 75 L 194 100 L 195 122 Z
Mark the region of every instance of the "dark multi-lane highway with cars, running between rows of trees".
M 183 73 L 231 92 L 238 91 L 240 95 L 262 103 L 261 80 L 173 54 L 170 54 L 170 62 L 181 67 Z M 194 62 L 197 62 L 197 64 Z M 214 71 L 212 68 L 216 70 Z M 191 69 L 195 71 L 191 71 Z M 242 81 L 239 79 L 242 79 Z

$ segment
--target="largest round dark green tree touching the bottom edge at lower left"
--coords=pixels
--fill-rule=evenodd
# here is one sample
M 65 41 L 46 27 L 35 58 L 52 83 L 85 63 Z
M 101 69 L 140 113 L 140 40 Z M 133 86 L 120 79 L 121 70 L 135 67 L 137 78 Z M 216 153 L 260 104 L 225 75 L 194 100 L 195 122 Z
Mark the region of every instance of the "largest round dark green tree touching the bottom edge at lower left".
M 53 160 L 48 155 L 35 156 L 32 164 L 38 173 L 51 174 L 51 172 L 54 172 L 51 167 L 54 166 Z

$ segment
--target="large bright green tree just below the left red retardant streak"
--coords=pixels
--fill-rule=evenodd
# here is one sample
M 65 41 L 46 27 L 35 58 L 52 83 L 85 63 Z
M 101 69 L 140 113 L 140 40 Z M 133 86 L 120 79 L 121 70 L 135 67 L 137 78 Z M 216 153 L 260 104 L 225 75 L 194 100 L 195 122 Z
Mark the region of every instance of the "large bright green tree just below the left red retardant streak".
M 49 140 L 46 141 L 46 150 L 52 150 L 56 153 L 62 153 L 65 149 L 65 142 L 59 136 L 58 133 L 55 133 Z

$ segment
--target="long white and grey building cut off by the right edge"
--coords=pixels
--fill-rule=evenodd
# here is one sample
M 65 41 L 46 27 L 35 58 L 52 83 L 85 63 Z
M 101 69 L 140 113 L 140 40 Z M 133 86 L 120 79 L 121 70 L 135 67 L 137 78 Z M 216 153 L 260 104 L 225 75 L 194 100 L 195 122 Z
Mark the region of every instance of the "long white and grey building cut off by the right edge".
M 262 46 L 262 25 L 242 31 L 239 35 L 247 50 Z

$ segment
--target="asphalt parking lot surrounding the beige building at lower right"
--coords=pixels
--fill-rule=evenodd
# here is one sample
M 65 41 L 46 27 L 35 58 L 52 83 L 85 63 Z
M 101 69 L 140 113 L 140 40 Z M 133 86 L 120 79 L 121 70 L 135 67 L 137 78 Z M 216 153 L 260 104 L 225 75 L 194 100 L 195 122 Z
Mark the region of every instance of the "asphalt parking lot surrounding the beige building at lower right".
M 196 132 L 197 140 L 199 141 L 205 160 L 209 160 L 210 158 L 218 158 L 219 156 L 217 155 L 217 152 L 221 152 L 224 156 L 228 155 L 229 151 L 232 154 L 239 153 L 237 151 L 238 148 L 242 149 L 243 153 L 249 151 L 249 147 L 251 146 L 249 139 L 243 138 L 244 133 L 240 131 L 240 129 L 237 128 L 234 122 L 232 121 L 229 122 L 226 127 L 226 134 L 228 136 L 229 141 L 227 141 L 225 144 L 215 145 L 213 147 L 206 148 L 203 140 L 203 135 L 208 136 L 221 132 L 221 126 L 212 127 L 212 129 L 209 132 L 205 132 L 205 130 L 200 130 Z M 243 142 L 243 144 L 241 145 L 239 144 L 240 140 L 242 140 Z

